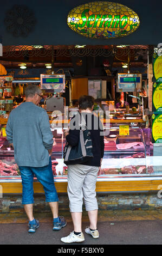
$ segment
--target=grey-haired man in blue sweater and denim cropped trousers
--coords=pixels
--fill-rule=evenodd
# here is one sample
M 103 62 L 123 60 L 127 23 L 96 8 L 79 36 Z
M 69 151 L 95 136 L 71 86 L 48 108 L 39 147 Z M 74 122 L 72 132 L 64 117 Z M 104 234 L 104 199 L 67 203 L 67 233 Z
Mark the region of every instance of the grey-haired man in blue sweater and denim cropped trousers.
M 25 102 L 13 109 L 9 115 L 6 133 L 8 141 L 14 147 L 15 162 L 22 178 L 22 204 L 29 218 L 29 233 L 35 233 L 39 227 L 33 215 L 34 174 L 44 188 L 46 202 L 53 213 L 53 230 L 66 226 L 63 217 L 58 216 L 58 196 L 51 169 L 53 134 L 50 130 L 47 112 L 38 107 L 41 90 L 37 86 L 25 89 Z

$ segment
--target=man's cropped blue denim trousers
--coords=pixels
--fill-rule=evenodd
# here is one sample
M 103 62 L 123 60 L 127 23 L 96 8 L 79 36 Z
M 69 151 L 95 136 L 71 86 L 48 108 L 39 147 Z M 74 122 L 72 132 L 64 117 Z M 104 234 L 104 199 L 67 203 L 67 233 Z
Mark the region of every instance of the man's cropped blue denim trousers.
M 33 178 L 34 174 L 38 181 L 43 185 L 46 202 L 58 202 L 57 191 L 54 184 L 54 176 L 51 165 L 51 157 L 48 166 L 28 167 L 19 166 L 22 178 L 22 204 L 34 203 Z

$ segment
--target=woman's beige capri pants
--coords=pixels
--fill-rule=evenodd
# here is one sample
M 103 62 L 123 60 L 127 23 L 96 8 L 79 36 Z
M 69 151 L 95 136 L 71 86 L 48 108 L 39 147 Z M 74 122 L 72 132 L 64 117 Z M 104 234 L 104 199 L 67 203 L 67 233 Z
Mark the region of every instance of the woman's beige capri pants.
M 83 198 L 86 211 L 98 209 L 96 179 L 99 167 L 83 164 L 68 166 L 68 197 L 70 212 L 82 212 Z

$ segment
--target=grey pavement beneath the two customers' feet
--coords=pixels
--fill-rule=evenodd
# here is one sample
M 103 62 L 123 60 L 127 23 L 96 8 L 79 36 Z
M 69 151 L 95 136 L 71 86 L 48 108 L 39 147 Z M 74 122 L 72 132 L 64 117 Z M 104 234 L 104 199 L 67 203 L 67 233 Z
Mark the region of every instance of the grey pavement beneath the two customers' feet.
M 60 231 L 53 231 L 51 213 L 36 212 L 34 216 L 40 221 L 40 227 L 35 234 L 29 234 L 28 220 L 24 212 L 0 214 L 0 245 L 57 245 L 57 250 L 67 248 L 60 238 L 73 231 L 72 218 L 66 211 L 60 212 L 60 215 L 66 218 L 67 226 Z M 77 245 L 84 248 L 87 245 L 95 248 L 102 245 L 161 245 L 162 243 L 162 210 L 99 211 L 99 239 L 93 239 L 85 233 L 84 229 L 87 225 L 89 225 L 88 216 L 83 212 L 82 231 L 85 241 Z M 70 244 L 72 245 L 76 243 Z

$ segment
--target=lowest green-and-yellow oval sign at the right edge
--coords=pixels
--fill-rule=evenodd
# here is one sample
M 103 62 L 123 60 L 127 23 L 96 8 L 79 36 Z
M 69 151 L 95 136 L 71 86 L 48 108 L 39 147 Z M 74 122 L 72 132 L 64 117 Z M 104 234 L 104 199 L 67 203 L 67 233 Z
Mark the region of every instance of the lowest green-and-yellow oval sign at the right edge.
M 162 113 L 152 115 L 152 142 L 162 143 Z

